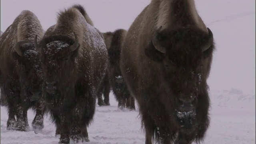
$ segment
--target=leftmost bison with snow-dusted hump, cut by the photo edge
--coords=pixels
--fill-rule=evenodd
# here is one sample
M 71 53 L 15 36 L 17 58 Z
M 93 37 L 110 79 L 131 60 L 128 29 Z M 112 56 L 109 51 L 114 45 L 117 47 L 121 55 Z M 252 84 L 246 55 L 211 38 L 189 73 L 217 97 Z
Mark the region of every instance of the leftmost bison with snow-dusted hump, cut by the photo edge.
M 6 102 L 8 108 L 7 130 L 26 131 L 31 107 L 36 110 L 33 129 L 44 127 L 45 106 L 40 99 L 43 76 L 34 46 L 36 35 L 40 40 L 42 26 L 34 13 L 24 10 L 0 38 L 1 103 Z

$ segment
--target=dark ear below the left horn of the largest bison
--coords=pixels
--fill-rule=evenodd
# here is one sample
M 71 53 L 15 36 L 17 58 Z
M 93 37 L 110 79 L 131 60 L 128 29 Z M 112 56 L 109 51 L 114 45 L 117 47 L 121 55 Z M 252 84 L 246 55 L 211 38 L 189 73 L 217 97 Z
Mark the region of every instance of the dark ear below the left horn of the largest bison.
M 152 42 L 145 49 L 145 55 L 154 62 L 162 62 L 164 60 L 164 53 L 156 50 Z

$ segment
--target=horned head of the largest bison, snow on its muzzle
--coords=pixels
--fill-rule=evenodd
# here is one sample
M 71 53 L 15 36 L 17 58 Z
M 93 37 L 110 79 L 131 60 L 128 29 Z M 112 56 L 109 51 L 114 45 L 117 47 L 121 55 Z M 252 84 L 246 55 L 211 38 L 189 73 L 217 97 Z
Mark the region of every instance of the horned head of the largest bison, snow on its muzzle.
M 153 35 L 145 54 L 157 62 L 164 90 L 178 112 L 196 109 L 200 96 L 207 95 L 206 79 L 210 72 L 213 34 L 197 28 L 161 30 Z

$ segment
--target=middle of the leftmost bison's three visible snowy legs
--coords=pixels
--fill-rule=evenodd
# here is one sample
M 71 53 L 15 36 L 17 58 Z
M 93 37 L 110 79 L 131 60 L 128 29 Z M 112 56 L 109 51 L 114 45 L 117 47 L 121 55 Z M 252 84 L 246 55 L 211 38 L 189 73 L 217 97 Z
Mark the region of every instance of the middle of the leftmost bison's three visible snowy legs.
M 16 121 L 15 130 L 26 131 L 26 122 L 25 122 L 25 118 L 23 117 L 23 112 L 24 112 L 23 106 L 21 104 L 18 104 L 17 110 L 16 110 L 17 121 Z

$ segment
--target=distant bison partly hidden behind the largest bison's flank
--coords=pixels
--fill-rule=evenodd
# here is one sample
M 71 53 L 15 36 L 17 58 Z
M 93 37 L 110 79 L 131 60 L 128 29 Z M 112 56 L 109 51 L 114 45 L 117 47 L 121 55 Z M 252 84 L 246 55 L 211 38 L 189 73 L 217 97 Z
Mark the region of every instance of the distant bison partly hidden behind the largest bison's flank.
M 114 32 L 105 32 L 102 34 L 104 36 L 110 58 L 108 79 L 110 87 L 112 88 L 115 98 L 118 101 L 118 108 L 123 109 L 126 107 L 130 110 L 135 110 L 135 100 L 132 96 L 130 96 L 130 92 L 126 87 L 120 70 L 121 45 L 124 41 L 126 33 L 126 30 L 118 29 Z M 106 82 L 105 87 L 107 87 L 107 84 L 108 83 Z M 110 90 L 110 87 L 108 87 L 108 90 Z

